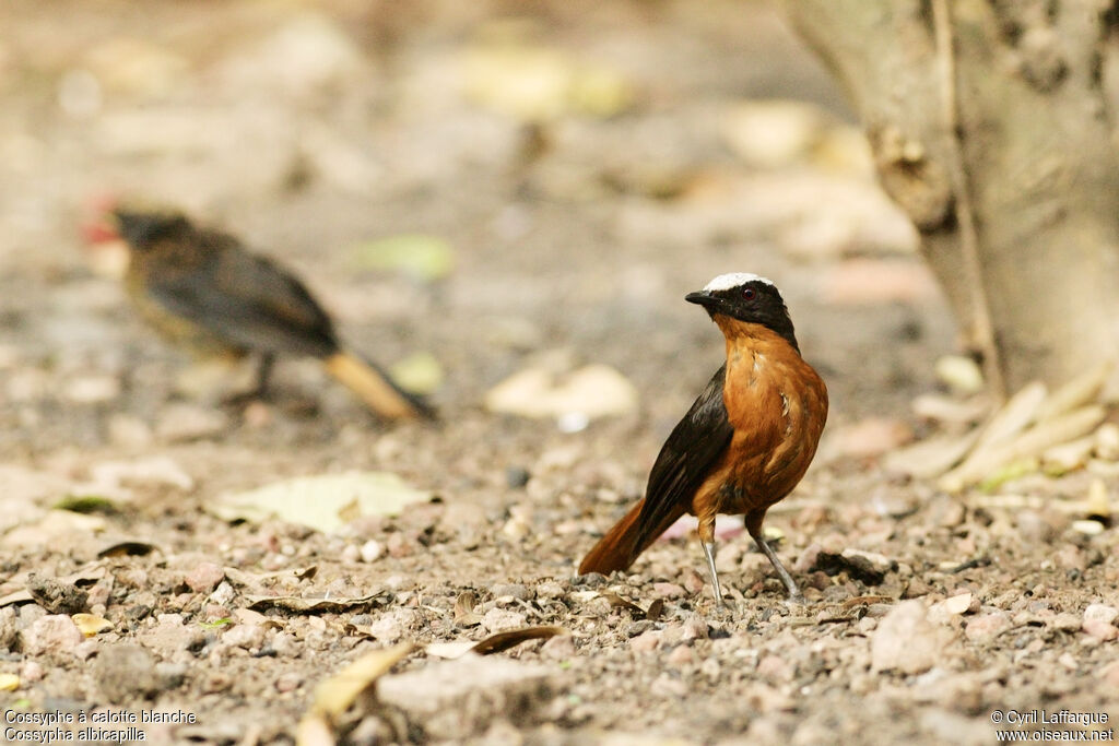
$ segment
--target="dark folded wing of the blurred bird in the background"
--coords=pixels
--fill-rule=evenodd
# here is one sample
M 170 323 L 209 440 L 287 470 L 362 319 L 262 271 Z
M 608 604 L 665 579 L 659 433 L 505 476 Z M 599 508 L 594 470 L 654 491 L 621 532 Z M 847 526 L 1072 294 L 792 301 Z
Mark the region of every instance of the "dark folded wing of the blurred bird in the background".
M 158 246 L 150 295 L 231 343 L 264 352 L 327 357 L 338 351 L 333 323 L 307 287 L 232 236 L 198 230 L 194 246 Z

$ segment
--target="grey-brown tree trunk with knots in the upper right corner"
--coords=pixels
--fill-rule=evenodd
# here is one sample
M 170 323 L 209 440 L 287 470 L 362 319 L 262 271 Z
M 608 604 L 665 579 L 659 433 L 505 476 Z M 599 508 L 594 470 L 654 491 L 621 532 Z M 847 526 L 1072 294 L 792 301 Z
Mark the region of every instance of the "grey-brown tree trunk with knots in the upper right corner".
M 1119 358 L 1111 3 L 783 6 L 852 96 L 993 389 Z

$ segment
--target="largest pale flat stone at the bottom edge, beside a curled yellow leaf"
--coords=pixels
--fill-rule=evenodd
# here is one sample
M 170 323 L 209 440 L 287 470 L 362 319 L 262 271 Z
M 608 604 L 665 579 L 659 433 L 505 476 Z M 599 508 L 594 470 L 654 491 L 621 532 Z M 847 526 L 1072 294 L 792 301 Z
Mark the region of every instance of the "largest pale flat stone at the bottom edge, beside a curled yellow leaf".
M 532 725 L 547 717 L 555 693 L 551 669 L 500 655 L 429 662 L 377 682 L 377 698 L 403 710 L 424 742 L 461 740 L 499 717 Z

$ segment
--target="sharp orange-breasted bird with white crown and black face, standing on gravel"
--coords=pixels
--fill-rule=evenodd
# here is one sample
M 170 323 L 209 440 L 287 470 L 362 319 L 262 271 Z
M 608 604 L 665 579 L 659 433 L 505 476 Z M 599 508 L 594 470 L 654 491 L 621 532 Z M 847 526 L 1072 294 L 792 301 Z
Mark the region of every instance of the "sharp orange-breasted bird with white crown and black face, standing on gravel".
M 824 431 L 828 391 L 801 357 L 789 310 L 772 281 L 722 274 L 685 300 L 703 306 L 726 341 L 726 361 L 673 428 L 639 500 L 591 549 L 581 575 L 628 568 L 678 518 L 692 513 L 715 603 L 715 516 L 741 513 L 792 602 L 803 596 L 762 535 L 765 511 L 805 475 Z

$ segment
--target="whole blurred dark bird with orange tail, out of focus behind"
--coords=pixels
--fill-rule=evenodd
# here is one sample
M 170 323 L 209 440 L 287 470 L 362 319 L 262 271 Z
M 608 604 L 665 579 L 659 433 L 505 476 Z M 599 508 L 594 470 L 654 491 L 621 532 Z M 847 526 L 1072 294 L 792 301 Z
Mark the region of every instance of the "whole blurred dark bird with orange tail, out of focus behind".
M 200 359 L 257 356 L 252 394 L 264 393 L 276 356 L 313 357 L 380 417 L 434 415 L 422 397 L 342 346 L 333 320 L 292 272 L 235 236 L 176 209 L 120 204 L 85 236 L 94 246 L 126 244 L 125 291 L 166 340 Z

